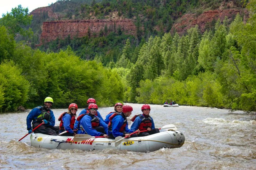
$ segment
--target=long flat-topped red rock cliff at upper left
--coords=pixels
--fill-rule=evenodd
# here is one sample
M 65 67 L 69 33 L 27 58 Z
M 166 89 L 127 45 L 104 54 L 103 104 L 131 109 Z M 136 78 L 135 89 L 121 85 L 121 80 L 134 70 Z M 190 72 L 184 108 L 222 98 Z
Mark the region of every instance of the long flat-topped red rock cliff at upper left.
M 41 42 L 49 42 L 50 40 L 65 39 L 68 35 L 83 37 L 98 36 L 100 31 L 104 32 L 107 28 L 108 32 L 121 28 L 125 34 L 135 35 L 136 27 L 131 19 L 95 19 L 95 20 L 58 20 L 43 23 L 41 34 Z M 90 29 L 90 31 L 89 31 Z

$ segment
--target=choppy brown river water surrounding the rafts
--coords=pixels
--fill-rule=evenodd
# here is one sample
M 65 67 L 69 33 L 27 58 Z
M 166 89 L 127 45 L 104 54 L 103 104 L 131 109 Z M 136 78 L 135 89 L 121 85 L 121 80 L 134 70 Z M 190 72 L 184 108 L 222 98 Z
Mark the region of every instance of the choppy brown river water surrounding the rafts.
M 142 104 L 130 104 L 141 113 Z M 141 153 L 81 151 L 30 146 L 29 112 L 0 114 L 0 169 L 256 169 L 256 118 L 242 111 L 207 107 L 150 105 L 155 127 L 174 124 L 185 135 L 180 148 Z M 78 109 L 80 113 L 82 109 Z M 56 125 L 67 109 L 53 109 Z M 102 117 L 113 107 L 99 108 Z

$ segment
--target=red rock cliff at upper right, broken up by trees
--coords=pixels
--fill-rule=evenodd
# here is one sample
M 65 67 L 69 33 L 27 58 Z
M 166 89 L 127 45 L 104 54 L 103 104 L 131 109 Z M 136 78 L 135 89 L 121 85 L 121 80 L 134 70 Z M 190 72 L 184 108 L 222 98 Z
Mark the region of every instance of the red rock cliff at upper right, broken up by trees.
M 205 11 L 199 16 L 196 16 L 196 14 L 185 14 L 173 25 L 171 31 L 176 31 L 179 35 L 182 35 L 186 33 L 189 28 L 198 25 L 199 30 L 203 33 L 206 30 L 205 26 L 207 23 L 210 23 L 213 19 L 217 20 L 220 18 L 222 22 L 225 16 L 227 16 L 227 18 L 231 20 L 237 13 L 244 12 L 246 13 L 244 9 L 224 9 Z

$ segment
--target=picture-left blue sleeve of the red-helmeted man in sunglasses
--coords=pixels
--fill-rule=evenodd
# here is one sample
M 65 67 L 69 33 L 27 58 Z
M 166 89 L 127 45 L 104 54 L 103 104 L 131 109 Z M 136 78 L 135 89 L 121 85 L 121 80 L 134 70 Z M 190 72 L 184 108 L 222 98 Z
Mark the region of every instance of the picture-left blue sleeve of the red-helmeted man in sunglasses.
M 88 115 L 85 115 L 81 120 L 80 124 L 83 126 L 83 129 L 88 135 L 91 136 L 101 136 L 102 133 L 98 132 L 97 130 L 93 129 L 91 126 L 91 117 Z

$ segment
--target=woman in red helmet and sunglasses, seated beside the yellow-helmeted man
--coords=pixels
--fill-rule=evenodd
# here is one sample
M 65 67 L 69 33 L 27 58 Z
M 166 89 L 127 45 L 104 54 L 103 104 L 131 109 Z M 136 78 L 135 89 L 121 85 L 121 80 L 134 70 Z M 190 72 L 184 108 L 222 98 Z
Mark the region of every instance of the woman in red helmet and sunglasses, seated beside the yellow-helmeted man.
M 58 121 L 59 123 L 59 133 L 63 131 L 68 131 L 67 133 L 62 134 L 62 136 L 75 136 L 76 133 L 73 131 L 74 124 L 75 124 L 75 116 L 77 116 L 77 109 L 78 106 L 75 103 L 71 103 L 69 105 L 69 111 L 64 112 L 59 116 Z

